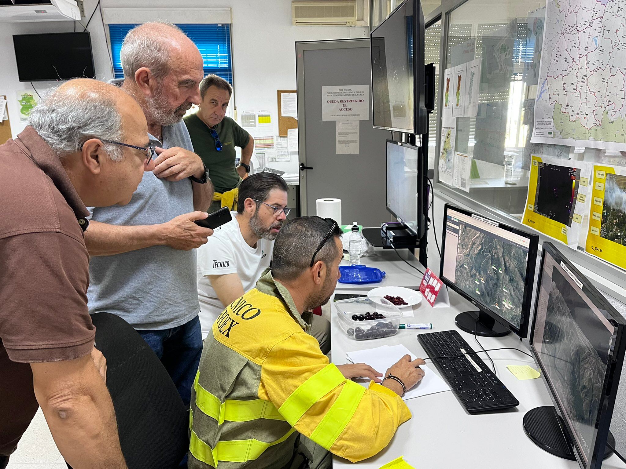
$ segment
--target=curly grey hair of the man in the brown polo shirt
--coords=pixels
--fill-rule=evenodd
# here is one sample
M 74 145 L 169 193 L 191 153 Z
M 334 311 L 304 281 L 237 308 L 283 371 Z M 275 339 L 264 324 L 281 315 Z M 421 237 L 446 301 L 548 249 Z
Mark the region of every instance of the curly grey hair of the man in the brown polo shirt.
M 59 156 L 80 151 L 90 138 L 120 141 L 123 136 L 115 101 L 96 91 L 49 89 L 31 110 L 28 124 Z M 113 161 L 123 158 L 118 145 L 104 143 L 104 149 Z

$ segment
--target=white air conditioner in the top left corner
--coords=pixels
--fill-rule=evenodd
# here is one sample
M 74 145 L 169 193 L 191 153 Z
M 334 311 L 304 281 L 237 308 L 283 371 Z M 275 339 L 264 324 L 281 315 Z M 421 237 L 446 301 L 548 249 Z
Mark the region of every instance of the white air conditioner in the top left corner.
M 0 1 L 0 23 L 32 21 L 80 21 L 82 0 L 33 0 L 19 4 Z

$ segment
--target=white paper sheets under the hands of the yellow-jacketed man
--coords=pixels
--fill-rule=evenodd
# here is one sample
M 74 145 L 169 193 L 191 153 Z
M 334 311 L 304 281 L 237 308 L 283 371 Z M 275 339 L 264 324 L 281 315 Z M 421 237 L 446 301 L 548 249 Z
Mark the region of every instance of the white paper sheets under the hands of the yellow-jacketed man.
M 404 345 L 383 345 L 377 348 L 369 348 L 367 350 L 357 350 L 347 353 L 347 358 L 352 363 L 367 363 L 379 373 L 385 373 L 387 369 L 398 362 L 404 355 L 411 355 L 411 360 L 416 357 Z M 421 365 L 424 370 L 424 377 L 421 381 L 410 390 L 406 391 L 403 400 L 412 399 L 414 397 L 425 396 L 427 394 L 441 393 L 451 390 L 450 386 L 444 380 L 439 378 L 428 366 Z M 369 385 L 369 381 L 361 383 L 364 386 Z

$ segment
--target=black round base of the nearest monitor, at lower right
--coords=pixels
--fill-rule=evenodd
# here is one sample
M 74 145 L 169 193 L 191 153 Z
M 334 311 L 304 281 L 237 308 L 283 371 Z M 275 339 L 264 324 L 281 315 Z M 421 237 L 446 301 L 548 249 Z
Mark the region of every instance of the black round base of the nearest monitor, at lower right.
M 570 440 L 567 431 L 564 430 L 565 423 L 557 414 L 554 406 L 545 405 L 529 410 L 524 415 L 523 424 L 528 438 L 542 450 L 563 459 L 576 460 L 572 440 Z M 613 450 L 608 446 L 615 448 L 615 438 L 610 431 L 608 432 L 607 447 L 604 450 L 604 459 L 613 453 Z

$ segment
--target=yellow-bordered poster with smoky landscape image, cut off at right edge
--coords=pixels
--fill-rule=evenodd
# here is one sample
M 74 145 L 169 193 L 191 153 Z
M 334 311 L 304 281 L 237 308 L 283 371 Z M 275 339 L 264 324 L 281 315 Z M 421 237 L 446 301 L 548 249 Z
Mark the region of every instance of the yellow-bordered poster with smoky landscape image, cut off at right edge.
M 593 165 L 585 251 L 626 269 L 626 168 Z

